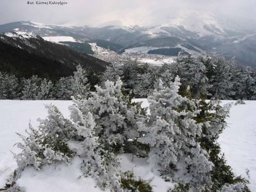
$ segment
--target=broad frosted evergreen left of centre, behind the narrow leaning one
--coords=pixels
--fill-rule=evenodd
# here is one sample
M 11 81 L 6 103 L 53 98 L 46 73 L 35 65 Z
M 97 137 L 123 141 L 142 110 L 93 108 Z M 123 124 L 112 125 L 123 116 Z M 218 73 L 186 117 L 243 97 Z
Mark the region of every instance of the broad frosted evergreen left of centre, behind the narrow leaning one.
M 124 96 L 120 80 L 115 83 L 106 81 L 103 88 L 95 88 L 96 92 L 92 92 L 88 99 L 74 102 L 81 113 L 92 113 L 95 134 L 102 140 L 102 148 L 112 152 L 125 150 L 125 141 L 138 138 L 137 122 L 145 120 L 145 111 Z

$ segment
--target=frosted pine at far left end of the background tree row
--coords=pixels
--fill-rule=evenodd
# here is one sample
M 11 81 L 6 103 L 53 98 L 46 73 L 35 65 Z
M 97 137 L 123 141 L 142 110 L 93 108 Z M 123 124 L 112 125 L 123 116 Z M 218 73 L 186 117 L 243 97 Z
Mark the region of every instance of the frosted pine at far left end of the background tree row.
M 19 86 L 17 77 L 0 72 L 0 99 L 19 99 Z

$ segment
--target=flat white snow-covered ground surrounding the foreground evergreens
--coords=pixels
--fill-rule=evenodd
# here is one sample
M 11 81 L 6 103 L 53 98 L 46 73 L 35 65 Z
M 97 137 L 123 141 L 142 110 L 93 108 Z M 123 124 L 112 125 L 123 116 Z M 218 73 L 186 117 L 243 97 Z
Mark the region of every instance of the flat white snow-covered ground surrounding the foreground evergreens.
M 148 103 L 142 101 L 143 107 Z M 226 103 L 228 101 L 224 101 Z M 69 117 L 68 106 L 71 101 L 60 100 L 36 100 L 17 101 L 0 100 L 0 188 L 4 186 L 5 180 L 16 167 L 12 152 L 19 152 L 13 145 L 20 141 L 15 132 L 25 134 L 29 121 L 33 127 L 38 125 L 37 118 L 45 118 L 47 110 L 44 104 L 54 104 L 62 111 L 65 117 Z M 227 163 L 232 166 L 236 175 L 247 177 L 246 169 L 250 170 L 250 188 L 256 191 L 256 101 L 246 101 L 244 105 L 232 106 L 228 128 L 220 136 L 222 151 L 227 157 Z M 120 156 L 122 170 L 133 170 L 136 176 L 152 180 L 154 191 L 166 191 L 173 184 L 164 182 L 145 162 L 145 159 L 135 158 L 131 162 L 131 156 Z M 73 159 L 70 166 L 58 164 L 56 166 L 45 166 L 40 172 L 33 169 L 26 170 L 18 184 L 26 191 L 100 191 L 95 188 L 95 181 L 91 178 L 83 178 L 78 167 L 79 159 Z

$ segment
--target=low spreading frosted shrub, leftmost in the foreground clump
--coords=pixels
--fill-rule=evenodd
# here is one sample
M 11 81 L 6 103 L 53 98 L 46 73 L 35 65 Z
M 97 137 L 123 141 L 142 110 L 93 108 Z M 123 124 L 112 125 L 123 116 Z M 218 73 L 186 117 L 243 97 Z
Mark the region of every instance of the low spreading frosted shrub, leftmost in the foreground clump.
M 65 119 L 55 106 L 46 106 L 48 116 L 45 120 L 39 120 L 38 129 L 29 125 L 28 137 L 19 136 L 23 143 L 17 143 L 22 149 L 20 154 L 15 154 L 20 170 L 26 166 L 33 166 L 36 170 L 44 164 L 56 161 L 69 162 L 73 152 L 68 148 L 67 140 L 75 135 L 72 123 Z

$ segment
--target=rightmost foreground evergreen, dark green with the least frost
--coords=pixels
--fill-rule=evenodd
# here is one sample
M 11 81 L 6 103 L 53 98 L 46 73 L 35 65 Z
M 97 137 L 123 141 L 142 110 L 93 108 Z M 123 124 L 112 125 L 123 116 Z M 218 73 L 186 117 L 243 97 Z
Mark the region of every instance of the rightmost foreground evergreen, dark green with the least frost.
M 208 152 L 209 160 L 214 164 L 211 171 L 212 184 L 207 186 L 208 191 L 218 191 L 225 185 L 243 183 L 246 187 L 247 184 L 247 180 L 234 175 L 232 168 L 227 165 L 224 155 L 221 155 L 221 148 L 217 139 L 227 127 L 226 119 L 231 105 L 221 106 L 220 103 L 220 100 L 196 101 L 200 113 L 198 113 L 195 120 L 202 124 L 202 135 L 198 138 L 198 141 L 201 147 Z

